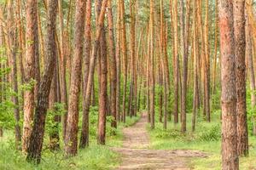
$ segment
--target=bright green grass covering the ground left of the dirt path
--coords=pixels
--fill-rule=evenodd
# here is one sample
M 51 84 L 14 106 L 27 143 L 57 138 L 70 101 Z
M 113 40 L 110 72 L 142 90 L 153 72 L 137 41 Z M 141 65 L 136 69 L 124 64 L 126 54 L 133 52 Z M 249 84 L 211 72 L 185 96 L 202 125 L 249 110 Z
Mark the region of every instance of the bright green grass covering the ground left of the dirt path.
M 39 165 L 28 163 L 26 156 L 15 150 L 13 131 L 5 130 L 3 138 L 0 138 L 0 169 L 1 170 L 97 170 L 113 169 L 120 163 L 119 155 L 109 146 L 119 147 L 122 145 L 122 129 L 129 127 L 139 120 L 137 117 L 127 117 L 126 123 L 119 123 L 119 127 L 113 130 L 109 123 L 107 126 L 107 144 L 105 146 L 96 144 L 96 136 L 90 135 L 90 147 L 79 150 L 78 156 L 65 158 L 62 150 L 51 152 L 44 150 L 42 161 Z M 92 127 L 93 128 L 93 127 Z M 93 129 L 92 129 L 93 130 Z M 114 135 L 113 135 L 114 134 Z M 44 139 L 44 146 L 48 144 L 48 137 Z M 61 148 L 63 148 L 61 144 Z M 45 147 L 44 147 L 45 148 Z

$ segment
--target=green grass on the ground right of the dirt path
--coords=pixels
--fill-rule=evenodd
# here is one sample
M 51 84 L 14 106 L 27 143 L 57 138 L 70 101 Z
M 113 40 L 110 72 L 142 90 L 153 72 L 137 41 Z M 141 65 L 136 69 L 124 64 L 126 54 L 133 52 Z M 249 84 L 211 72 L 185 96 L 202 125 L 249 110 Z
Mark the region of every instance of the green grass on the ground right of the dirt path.
M 212 115 L 212 122 L 205 122 L 200 117 L 196 123 L 195 133 L 191 132 L 191 114 L 187 116 L 187 133 L 180 133 L 179 125 L 168 123 L 163 130 L 162 123 L 157 122 L 150 134 L 150 148 L 155 150 L 201 150 L 207 158 L 193 158 L 190 167 L 197 170 L 221 169 L 221 128 L 219 113 Z M 249 137 L 249 156 L 240 158 L 240 169 L 256 168 L 256 137 Z

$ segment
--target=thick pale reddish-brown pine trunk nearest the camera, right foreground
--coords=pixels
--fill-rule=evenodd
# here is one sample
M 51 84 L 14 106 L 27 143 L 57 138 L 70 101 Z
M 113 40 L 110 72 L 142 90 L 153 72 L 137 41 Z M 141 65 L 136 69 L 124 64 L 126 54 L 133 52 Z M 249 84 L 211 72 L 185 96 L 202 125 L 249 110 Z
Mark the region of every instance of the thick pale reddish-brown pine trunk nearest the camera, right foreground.
M 222 169 L 239 169 L 236 129 L 236 54 L 232 1 L 219 1 L 222 81 Z

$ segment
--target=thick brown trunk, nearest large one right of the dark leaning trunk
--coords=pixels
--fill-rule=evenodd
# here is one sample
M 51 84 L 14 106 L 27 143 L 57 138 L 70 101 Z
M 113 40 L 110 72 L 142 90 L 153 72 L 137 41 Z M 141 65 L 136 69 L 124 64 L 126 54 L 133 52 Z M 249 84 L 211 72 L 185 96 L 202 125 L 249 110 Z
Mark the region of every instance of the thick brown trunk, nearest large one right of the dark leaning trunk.
M 85 20 L 84 0 L 76 0 L 75 12 L 75 33 L 74 33 L 74 55 L 72 72 L 70 77 L 67 129 L 65 136 L 66 156 L 75 156 L 78 153 L 78 133 L 79 133 L 79 94 L 82 73 L 82 55 L 84 41 L 84 20 Z

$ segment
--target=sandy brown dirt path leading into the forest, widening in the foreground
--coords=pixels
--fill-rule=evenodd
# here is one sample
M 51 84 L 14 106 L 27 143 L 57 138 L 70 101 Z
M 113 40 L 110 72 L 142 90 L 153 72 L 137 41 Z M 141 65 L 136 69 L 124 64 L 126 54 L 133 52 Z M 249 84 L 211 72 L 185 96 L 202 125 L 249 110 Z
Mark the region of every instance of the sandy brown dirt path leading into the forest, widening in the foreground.
M 195 157 L 206 157 L 196 150 L 149 150 L 149 136 L 146 129 L 147 115 L 132 127 L 123 130 L 125 139 L 122 148 L 113 148 L 121 155 L 118 170 L 126 169 L 168 169 L 189 170 L 189 161 Z

